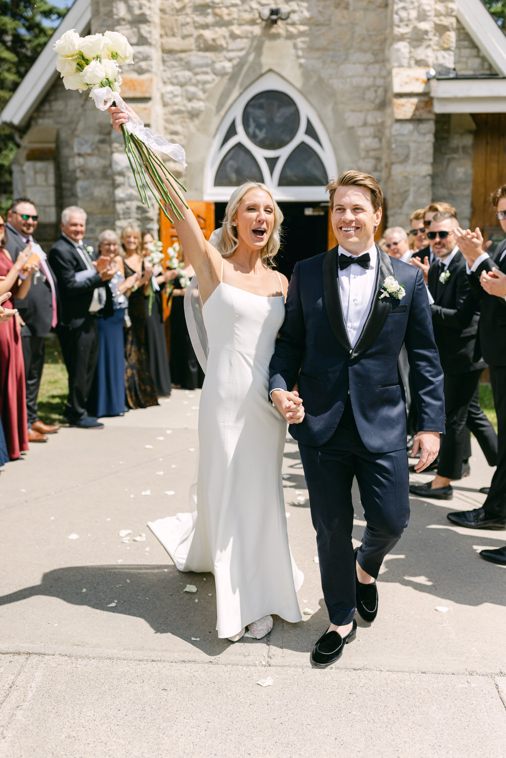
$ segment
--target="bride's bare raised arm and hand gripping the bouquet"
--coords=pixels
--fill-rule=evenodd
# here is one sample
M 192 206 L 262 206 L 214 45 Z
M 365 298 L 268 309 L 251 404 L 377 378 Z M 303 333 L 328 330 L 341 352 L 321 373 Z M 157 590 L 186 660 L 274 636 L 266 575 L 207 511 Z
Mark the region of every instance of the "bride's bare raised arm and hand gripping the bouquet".
M 129 105 L 125 107 L 129 112 L 125 112 L 115 106 L 108 108 L 112 117 L 112 127 L 117 132 L 121 132 L 121 126 L 130 120 L 130 114 L 132 114 L 134 119 L 137 118 L 137 114 Z M 144 168 L 146 168 L 146 173 L 149 175 L 149 165 L 144 164 Z M 174 227 L 178 232 L 184 254 L 189 259 L 198 277 L 200 296 L 203 302 L 205 302 L 212 291 L 218 287 L 222 256 L 218 250 L 206 242 L 198 221 L 192 211 L 190 211 L 190 208 L 186 208 L 167 181 L 164 180 L 164 183 L 174 205 L 181 211 L 181 215 L 184 216 L 184 221 L 174 218 Z

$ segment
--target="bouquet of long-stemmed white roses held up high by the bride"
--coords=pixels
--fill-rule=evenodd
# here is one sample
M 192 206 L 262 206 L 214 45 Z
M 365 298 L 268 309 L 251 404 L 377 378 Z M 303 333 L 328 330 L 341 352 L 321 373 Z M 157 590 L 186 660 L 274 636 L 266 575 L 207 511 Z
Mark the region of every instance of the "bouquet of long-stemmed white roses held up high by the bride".
M 121 85 L 119 64 L 133 63 L 134 58 L 125 36 L 118 32 L 107 31 L 103 34 L 80 37 L 74 29 L 71 29 L 55 42 L 54 49 L 58 53 L 56 68 L 67 89 L 85 92 L 90 87 L 90 97 L 93 97 L 99 110 L 105 111 L 111 105 L 118 105 L 126 111 L 119 94 Z M 150 207 L 147 194 L 147 188 L 150 187 L 156 202 L 169 221 L 172 219 L 165 205 L 170 206 L 176 218 L 184 219 L 168 193 L 164 179 L 168 181 L 174 193 L 187 208 L 186 202 L 174 184 L 184 192 L 186 188 L 174 177 L 174 174 L 171 174 L 171 171 L 168 171 L 154 152 L 164 152 L 186 166 L 184 149 L 180 145 L 168 143 L 166 139 L 145 127 L 142 121 L 134 121 L 131 116 L 130 121 L 121 127 L 121 132 L 124 149 L 130 168 L 134 172 L 135 183 L 143 205 Z

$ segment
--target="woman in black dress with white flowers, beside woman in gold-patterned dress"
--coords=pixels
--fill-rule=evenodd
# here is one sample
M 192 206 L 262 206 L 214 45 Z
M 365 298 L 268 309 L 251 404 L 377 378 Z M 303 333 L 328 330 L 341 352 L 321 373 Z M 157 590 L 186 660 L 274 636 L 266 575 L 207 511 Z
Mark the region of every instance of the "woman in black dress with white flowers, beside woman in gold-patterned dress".
M 141 232 L 142 255 L 149 262 L 152 250 L 149 245 L 154 243 L 154 237 L 148 230 Z M 152 276 L 144 285 L 144 305 L 146 308 L 146 347 L 149 356 L 149 368 L 155 382 L 156 394 L 168 397 L 171 394 L 171 370 L 168 365 L 167 342 L 165 340 L 165 321 L 163 320 L 162 289 L 165 284 L 177 275 L 177 271 L 163 270 L 155 264 Z

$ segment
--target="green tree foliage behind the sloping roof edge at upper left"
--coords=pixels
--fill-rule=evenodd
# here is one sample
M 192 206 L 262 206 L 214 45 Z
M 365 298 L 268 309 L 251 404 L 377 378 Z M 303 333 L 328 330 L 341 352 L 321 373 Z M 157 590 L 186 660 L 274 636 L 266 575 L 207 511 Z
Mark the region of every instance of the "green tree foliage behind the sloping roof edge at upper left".
M 0 111 L 30 69 L 67 8 L 46 0 L 0 0 Z M 19 138 L 19 135 L 18 135 Z M 14 133 L 0 125 L 0 206 L 11 202 Z

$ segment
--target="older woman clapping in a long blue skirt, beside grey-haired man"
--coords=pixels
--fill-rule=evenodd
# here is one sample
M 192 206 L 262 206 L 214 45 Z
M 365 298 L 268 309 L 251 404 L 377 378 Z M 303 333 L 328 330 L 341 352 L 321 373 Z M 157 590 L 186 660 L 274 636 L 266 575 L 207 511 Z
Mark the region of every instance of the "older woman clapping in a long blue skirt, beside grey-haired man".
M 127 296 L 140 279 L 139 274 L 124 276 L 123 258 L 119 255 L 120 242 L 112 229 L 99 234 L 99 257 L 116 271 L 107 286 L 112 293 L 112 315 L 104 309 L 97 313 L 99 357 L 96 363 L 87 412 L 98 418 L 124 415 L 124 314 L 128 307 Z

